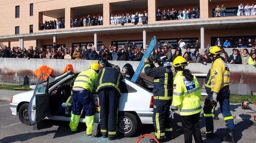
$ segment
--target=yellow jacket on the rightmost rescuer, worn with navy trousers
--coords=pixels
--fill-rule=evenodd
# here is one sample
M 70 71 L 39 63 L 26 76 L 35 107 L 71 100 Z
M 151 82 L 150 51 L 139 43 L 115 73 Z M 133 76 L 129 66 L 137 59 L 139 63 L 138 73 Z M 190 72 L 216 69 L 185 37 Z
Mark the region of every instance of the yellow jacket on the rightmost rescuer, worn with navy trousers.
M 227 64 L 217 58 L 211 66 L 211 91 L 219 92 L 221 88 L 229 85 L 230 71 Z

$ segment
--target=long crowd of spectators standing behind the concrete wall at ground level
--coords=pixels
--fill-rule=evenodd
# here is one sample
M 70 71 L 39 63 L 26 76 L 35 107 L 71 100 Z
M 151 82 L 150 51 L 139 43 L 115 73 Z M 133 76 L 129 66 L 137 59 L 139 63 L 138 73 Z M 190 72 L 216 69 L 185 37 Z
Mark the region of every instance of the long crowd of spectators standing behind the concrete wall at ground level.
M 219 38 L 218 38 L 219 39 Z M 182 40 L 179 40 L 182 42 Z M 218 41 L 220 42 L 220 41 Z M 198 44 L 196 43 L 193 45 Z M 87 46 L 83 45 L 81 47 L 80 44 L 77 44 L 75 48 L 70 47 L 66 48 L 65 45 L 62 47 L 56 47 L 56 43 L 53 43 L 51 48 L 38 48 L 30 46 L 29 49 L 20 47 L 10 47 L 4 46 L 4 48 L 0 49 L 0 57 L 6 58 L 43 58 L 43 59 L 74 59 L 74 60 L 99 60 L 99 58 L 106 58 L 107 60 L 122 60 L 122 61 L 141 61 L 144 53 L 147 51 L 148 45 L 145 45 L 145 49 L 143 47 L 138 48 L 135 42 L 132 44 L 127 41 L 125 45 L 121 47 L 117 47 L 116 45 L 110 44 L 109 47 L 105 45 L 101 45 L 101 50 L 99 53 L 96 52 L 94 45 Z M 188 64 L 189 63 L 201 63 L 208 64 L 212 63 L 211 58 L 209 57 L 209 46 L 202 53 L 199 52 L 200 46 L 196 47 L 194 51 L 192 51 L 191 47 L 186 47 L 186 51 L 182 55 L 182 47 L 177 47 L 175 52 L 172 53 L 171 48 L 168 47 L 168 42 L 166 41 L 163 45 L 158 42 L 155 49 L 152 51 L 150 55 L 150 59 L 155 61 L 157 55 L 163 53 L 167 56 L 168 60 L 172 62 L 177 56 L 183 56 Z M 223 61 L 229 64 L 252 64 L 255 65 L 255 48 L 252 48 L 250 53 L 248 49 L 238 50 L 233 49 L 233 53 L 228 55 L 225 52 L 225 48 L 220 46 L 222 53 L 221 57 L 223 57 Z

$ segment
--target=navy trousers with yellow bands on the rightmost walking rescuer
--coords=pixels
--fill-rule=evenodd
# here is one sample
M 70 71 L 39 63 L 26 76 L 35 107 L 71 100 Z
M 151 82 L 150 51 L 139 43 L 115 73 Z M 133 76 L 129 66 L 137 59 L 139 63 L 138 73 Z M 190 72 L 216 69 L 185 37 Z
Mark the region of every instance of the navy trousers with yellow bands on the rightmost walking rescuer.
M 204 117 L 206 119 L 206 134 L 209 134 L 213 132 L 213 118 L 211 116 L 212 109 L 215 106 L 215 103 L 211 101 L 213 92 L 209 93 L 209 95 L 206 98 L 206 101 L 204 102 Z M 223 87 L 219 91 L 217 95 L 217 101 L 219 102 L 221 113 L 223 115 L 223 118 L 226 122 L 227 128 L 234 129 L 234 119 L 233 116 L 230 113 L 229 109 L 229 96 L 230 96 L 230 90 L 229 87 Z

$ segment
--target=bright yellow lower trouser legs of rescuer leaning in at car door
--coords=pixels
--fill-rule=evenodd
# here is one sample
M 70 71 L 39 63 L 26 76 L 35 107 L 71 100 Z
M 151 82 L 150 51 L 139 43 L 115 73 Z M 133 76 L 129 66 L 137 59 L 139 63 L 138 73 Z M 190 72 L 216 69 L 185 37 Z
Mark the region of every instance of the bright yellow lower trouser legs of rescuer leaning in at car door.
M 76 131 L 77 130 L 77 126 L 78 126 L 80 117 L 81 117 L 81 115 L 74 115 L 74 114 L 71 115 L 71 120 L 70 120 L 70 123 L 69 123 L 71 131 Z M 85 116 L 85 124 L 86 124 L 86 127 L 87 127 L 86 134 L 87 135 L 91 135 L 93 133 L 94 118 L 95 118 L 95 115 Z

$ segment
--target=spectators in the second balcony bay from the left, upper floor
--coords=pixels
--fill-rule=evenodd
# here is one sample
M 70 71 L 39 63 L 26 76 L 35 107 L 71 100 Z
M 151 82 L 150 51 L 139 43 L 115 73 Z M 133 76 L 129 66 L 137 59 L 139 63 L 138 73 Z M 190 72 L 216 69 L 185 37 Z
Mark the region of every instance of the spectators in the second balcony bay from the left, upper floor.
M 103 17 L 101 15 L 93 17 L 90 17 L 90 15 L 88 15 L 87 17 L 81 17 L 80 19 L 71 18 L 70 20 L 71 27 L 85 27 L 95 25 L 103 25 Z

